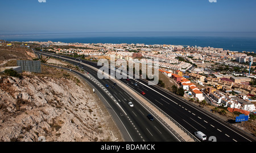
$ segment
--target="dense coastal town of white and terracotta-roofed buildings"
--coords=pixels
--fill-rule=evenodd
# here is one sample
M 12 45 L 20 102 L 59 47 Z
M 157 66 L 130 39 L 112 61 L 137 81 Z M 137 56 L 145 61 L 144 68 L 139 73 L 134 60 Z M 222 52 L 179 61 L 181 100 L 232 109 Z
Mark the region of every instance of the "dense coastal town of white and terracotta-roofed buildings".
M 30 43 L 30 42 L 28 42 Z M 247 52 L 237 52 L 213 48 L 210 46 L 181 46 L 168 44 L 82 44 L 64 42 L 33 42 L 42 45 L 42 49 L 61 54 L 78 54 L 90 57 L 123 59 L 126 61 L 143 62 L 150 65 L 156 64 L 163 69 L 165 75 L 175 80 L 185 91 L 191 92 L 198 100 L 204 100 L 202 91 L 206 91 L 217 105 L 239 108 L 246 110 L 255 109 L 253 101 L 245 98 L 248 95 L 256 95 L 256 87 L 251 86 L 256 78 L 253 73 L 246 75 L 249 71 L 248 62 L 255 62 L 253 56 Z M 61 48 L 61 46 L 70 48 Z M 254 53 L 253 53 L 254 54 Z M 180 58 L 184 60 L 179 60 Z M 142 60 L 144 59 L 144 60 Z M 209 63 L 209 66 L 201 65 Z M 239 67 L 243 72 L 218 70 L 218 66 L 226 66 L 227 69 Z M 252 72 L 256 74 L 255 66 L 251 65 Z M 216 71 L 212 73 L 212 71 Z M 187 73 L 187 74 L 185 74 Z M 189 78 L 185 77 L 188 76 Z M 204 90 L 206 89 L 206 90 Z M 230 93 L 234 95 L 230 95 Z M 227 95 L 228 94 L 228 95 Z

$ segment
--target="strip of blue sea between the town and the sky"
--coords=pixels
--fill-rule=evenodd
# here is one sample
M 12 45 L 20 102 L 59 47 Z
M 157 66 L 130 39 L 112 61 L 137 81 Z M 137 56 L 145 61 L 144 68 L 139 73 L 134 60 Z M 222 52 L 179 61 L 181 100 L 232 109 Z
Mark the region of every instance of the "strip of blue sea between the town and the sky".
M 256 53 L 256 32 L 77 32 L 1 34 L 6 41 L 53 41 L 67 43 L 167 44 L 223 48 Z

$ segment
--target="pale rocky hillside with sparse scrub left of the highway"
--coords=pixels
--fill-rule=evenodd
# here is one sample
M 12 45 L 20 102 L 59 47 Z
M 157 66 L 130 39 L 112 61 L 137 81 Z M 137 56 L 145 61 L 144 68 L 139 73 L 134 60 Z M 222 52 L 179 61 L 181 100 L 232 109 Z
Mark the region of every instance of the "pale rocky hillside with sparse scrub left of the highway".
M 90 87 L 80 79 L 23 73 L 0 76 L 0 141 L 122 141 Z

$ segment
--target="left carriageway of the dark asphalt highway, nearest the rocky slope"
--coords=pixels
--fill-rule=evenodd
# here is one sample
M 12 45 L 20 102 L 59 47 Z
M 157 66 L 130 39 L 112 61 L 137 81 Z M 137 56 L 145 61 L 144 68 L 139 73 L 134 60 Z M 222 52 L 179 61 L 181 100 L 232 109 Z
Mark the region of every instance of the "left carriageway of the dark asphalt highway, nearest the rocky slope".
M 43 53 L 42 53 L 43 54 Z M 67 60 L 66 60 L 67 61 Z M 97 79 L 97 72 L 80 65 L 79 62 L 69 61 L 74 65 L 83 67 L 90 78 Z M 69 70 L 67 68 L 63 68 Z M 102 84 L 98 86 L 92 79 L 89 79 L 85 75 L 81 75 L 77 71 L 72 71 L 77 75 L 80 75 L 87 82 L 93 85 L 97 94 L 100 94 L 102 101 L 110 114 L 112 114 L 114 121 L 116 122 L 119 130 L 123 134 L 123 138 L 126 142 L 179 142 L 180 140 L 171 133 L 166 126 L 164 126 L 156 117 L 154 121 L 150 121 L 147 118 L 148 114 L 151 114 L 150 110 L 144 108 L 137 99 L 134 99 L 129 92 L 123 90 L 122 87 L 117 84 L 114 86 L 112 79 L 97 79 L 96 82 Z M 106 84 L 109 87 L 106 87 Z M 112 88 L 114 86 L 115 88 Z M 105 89 L 105 90 L 104 90 Z M 106 92 L 106 90 L 108 92 Z M 109 95 L 114 97 L 114 101 Z M 131 101 L 134 107 L 130 107 L 128 102 Z

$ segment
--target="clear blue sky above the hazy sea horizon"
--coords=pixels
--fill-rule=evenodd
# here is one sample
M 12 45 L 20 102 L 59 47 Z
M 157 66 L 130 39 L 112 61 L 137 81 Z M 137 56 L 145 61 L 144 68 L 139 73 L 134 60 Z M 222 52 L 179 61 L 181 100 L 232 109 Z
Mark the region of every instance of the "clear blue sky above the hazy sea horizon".
M 8 0 L 0 6 L 0 34 L 256 32 L 255 0 Z

